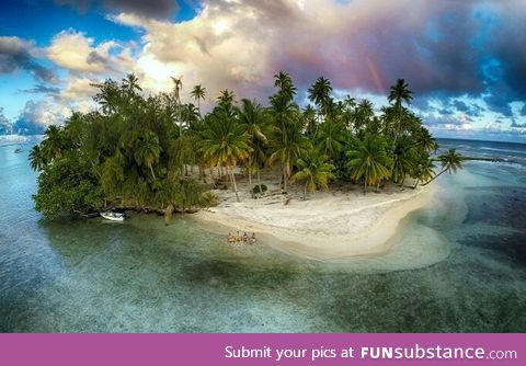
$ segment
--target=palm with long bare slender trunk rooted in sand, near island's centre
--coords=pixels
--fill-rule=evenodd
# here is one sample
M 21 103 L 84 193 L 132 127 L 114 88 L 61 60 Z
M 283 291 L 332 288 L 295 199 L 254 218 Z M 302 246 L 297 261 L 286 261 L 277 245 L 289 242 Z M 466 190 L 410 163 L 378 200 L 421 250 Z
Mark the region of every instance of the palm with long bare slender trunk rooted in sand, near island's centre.
M 250 151 L 249 136 L 244 127 L 230 121 L 225 112 L 218 111 L 203 131 L 203 153 L 210 165 L 227 167 L 238 202 L 241 201 L 233 168 L 240 160 L 247 159 Z

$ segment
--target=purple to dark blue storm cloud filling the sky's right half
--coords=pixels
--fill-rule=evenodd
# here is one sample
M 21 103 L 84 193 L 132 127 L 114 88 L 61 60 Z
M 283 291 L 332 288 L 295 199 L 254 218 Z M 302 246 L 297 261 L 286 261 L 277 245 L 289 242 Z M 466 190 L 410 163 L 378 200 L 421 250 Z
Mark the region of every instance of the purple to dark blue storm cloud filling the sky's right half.
M 511 102 L 526 100 L 524 1 L 402 0 L 381 7 L 361 0 L 341 5 L 325 31 L 296 15 L 273 48 L 272 70 L 288 70 L 300 89 L 323 75 L 336 89 L 379 94 L 403 78 L 416 96 L 438 93 L 444 103 L 484 98 L 505 117 L 513 116 Z M 310 28 L 297 30 L 296 21 Z M 484 112 L 466 102 L 455 107 L 473 117 Z

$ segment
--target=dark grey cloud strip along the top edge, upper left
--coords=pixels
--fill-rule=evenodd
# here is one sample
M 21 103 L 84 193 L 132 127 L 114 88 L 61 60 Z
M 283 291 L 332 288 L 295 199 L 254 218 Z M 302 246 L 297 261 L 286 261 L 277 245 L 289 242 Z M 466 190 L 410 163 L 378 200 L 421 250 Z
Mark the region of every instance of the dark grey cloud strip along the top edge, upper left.
M 157 19 L 168 19 L 179 9 L 175 0 L 55 0 L 55 2 L 71 5 L 83 12 L 102 7 L 111 12 L 129 12 Z

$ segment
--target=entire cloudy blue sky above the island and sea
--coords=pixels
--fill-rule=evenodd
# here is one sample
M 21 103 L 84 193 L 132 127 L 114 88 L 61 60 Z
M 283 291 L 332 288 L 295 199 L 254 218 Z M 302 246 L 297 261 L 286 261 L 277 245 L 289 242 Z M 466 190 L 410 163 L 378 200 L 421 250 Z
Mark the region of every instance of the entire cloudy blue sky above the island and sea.
M 182 77 L 265 104 L 273 76 L 297 102 L 324 76 L 335 98 L 387 104 L 397 79 L 436 137 L 526 142 L 524 0 L 3 0 L 0 134 L 42 133 L 94 107 L 93 82 Z

